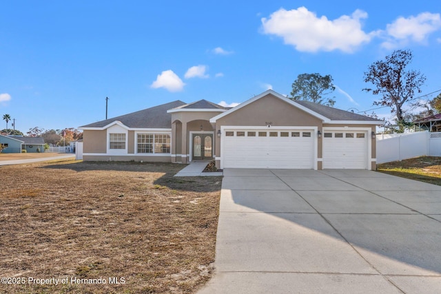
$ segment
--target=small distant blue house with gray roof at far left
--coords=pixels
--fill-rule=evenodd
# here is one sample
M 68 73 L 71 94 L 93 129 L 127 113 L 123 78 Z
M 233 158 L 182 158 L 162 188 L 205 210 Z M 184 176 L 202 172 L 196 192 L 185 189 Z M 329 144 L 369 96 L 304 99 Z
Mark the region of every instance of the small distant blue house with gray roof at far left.
M 44 152 L 44 139 L 41 137 L 3 136 L 0 135 L 2 153 Z

